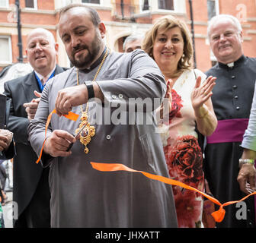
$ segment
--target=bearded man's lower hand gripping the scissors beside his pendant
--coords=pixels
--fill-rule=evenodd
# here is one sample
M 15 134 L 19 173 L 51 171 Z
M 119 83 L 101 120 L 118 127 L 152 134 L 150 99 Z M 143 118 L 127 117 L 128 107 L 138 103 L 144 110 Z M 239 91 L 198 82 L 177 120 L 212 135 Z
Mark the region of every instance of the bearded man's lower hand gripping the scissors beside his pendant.
M 43 151 L 53 157 L 66 157 L 71 155 L 71 151 L 67 151 L 71 143 L 75 143 L 75 137 L 72 134 L 67 131 L 54 130 L 50 137 L 47 137 Z

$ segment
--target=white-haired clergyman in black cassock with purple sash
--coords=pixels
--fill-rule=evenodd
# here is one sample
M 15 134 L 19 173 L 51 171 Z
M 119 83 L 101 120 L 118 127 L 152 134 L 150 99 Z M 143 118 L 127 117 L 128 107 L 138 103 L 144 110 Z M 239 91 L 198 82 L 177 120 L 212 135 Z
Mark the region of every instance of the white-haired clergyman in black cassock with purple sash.
M 213 88 L 213 108 L 218 126 L 207 137 L 205 175 L 210 191 L 220 202 L 239 200 L 238 160 L 242 156 L 243 134 L 248 125 L 254 83 L 256 58 L 243 55 L 242 27 L 239 21 L 226 14 L 213 17 L 208 26 L 210 47 L 218 63 L 206 71 L 217 77 Z M 246 200 L 247 219 L 237 219 L 236 204 L 226 207 L 226 216 L 217 227 L 254 226 L 253 198 Z

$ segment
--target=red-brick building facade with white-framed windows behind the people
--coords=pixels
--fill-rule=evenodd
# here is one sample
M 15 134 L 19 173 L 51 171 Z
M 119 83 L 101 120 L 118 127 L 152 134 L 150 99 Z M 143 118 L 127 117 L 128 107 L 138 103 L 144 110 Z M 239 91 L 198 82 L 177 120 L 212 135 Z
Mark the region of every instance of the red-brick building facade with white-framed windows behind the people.
M 17 2 L 20 4 L 22 56 L 18 46 Z M 81 2 L 98 11 L 107 27 L 107 46 L 118 52 L 123 52 L 126 36 L 146 33 L 155 19 L 165 14 L 184 19 L 191 29 L 192 8 L 197 68 L 206 71 L 216 60 L 206 36 L 207 23 L 216 14 L 238 17 L 243 27 L 245 55 L 256 56 L 256 0 L 0 0 L 0 71 L 21 58 L 27 62 L 26 36 L 36 27 L 53 33 L 59 43 L 59 65 L 69 67 L 69 58 L 57 33 L 59 9 Z

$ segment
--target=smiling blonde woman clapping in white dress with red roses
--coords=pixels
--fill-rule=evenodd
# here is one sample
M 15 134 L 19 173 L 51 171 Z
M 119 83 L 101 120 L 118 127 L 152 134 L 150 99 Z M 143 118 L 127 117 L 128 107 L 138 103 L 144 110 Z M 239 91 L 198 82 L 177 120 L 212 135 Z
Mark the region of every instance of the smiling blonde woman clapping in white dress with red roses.
M 175 17 L 159 18 L 146 33 L 142 48 L 158 64 L 167 83 L 165 98 L 171 112 L 166 119 L 163 106 L 158 110 L 164 118 L 158 128 L 169 175 L 204 191 L 203 155 L 197 130 L 209 136 L 216 128 L 210 99 L 216 78 L 206 78 L 202 71 L 192 68 L 190 32 Z M 173 192 L 179 227 L 202 227 L 203 197 L 178 186 L 173 186 Z

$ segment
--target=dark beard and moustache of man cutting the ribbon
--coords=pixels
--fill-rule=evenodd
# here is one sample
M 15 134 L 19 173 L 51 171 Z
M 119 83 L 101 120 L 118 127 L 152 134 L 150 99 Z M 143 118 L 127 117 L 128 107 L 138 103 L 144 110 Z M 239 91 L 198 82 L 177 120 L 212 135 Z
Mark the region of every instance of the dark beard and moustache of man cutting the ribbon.
M 80 49 L 87 49 L 88 54 L 85 56 L 84 59 L 78 61 L 78 60 L 75 60 L 74 52 Z M 72 57 L 69 57 L 69 60 L 70 62 L 72 62 L 72 65 L 74 65 L 76 68 L 80 68 L 80 69 L 88 68 L 91 66 L 92 62 L 96 61 L 94 59 L 97 57 L 100 49 L 101 49 L 101 36 L 98 33 L 95 33 L 94 39 L 91 43 L 91 49 L 89 49 L 87 45 L 75 46 L 74 52 L 72 53 Z

